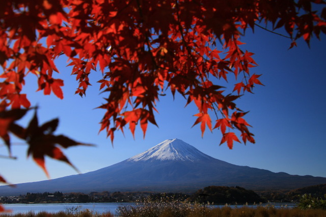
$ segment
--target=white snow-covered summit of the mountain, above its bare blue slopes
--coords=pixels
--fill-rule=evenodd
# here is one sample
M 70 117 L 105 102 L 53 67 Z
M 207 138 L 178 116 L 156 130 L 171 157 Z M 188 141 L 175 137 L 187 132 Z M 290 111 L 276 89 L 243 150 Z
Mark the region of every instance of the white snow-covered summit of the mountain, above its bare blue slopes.
M 127 161 L 199 161 L 211 159 L 207 154 L 180 139 L 167 139 Z

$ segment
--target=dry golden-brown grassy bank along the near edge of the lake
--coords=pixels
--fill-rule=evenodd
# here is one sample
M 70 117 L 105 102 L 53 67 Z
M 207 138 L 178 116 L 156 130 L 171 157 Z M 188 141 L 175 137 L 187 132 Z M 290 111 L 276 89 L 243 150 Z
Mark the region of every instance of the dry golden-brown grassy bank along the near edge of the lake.
M 2 217 L 269 217 L 269 216 L 280 216 L 280 217 L 317 217 L 326 216 L 326 210 L 321 209 L 300 209 L 300 208 L 274 208 L 274 207 L 263 207 L 258 206 L 257 208 L 241 207 L 241 208 L 230 208 L 225 206 L 223 208 L 209 209 L 202 206 L 183 206 L 176 204 L 175 206 L 164 206 L 160 204 L 157 206 L 121 206 L 119 207 L 119 215 L 113 213 L 99 214 L 91 210 L 66 210 L 58 213 L 48 212 L 28 212 L 23 214 L 4 213 Z

